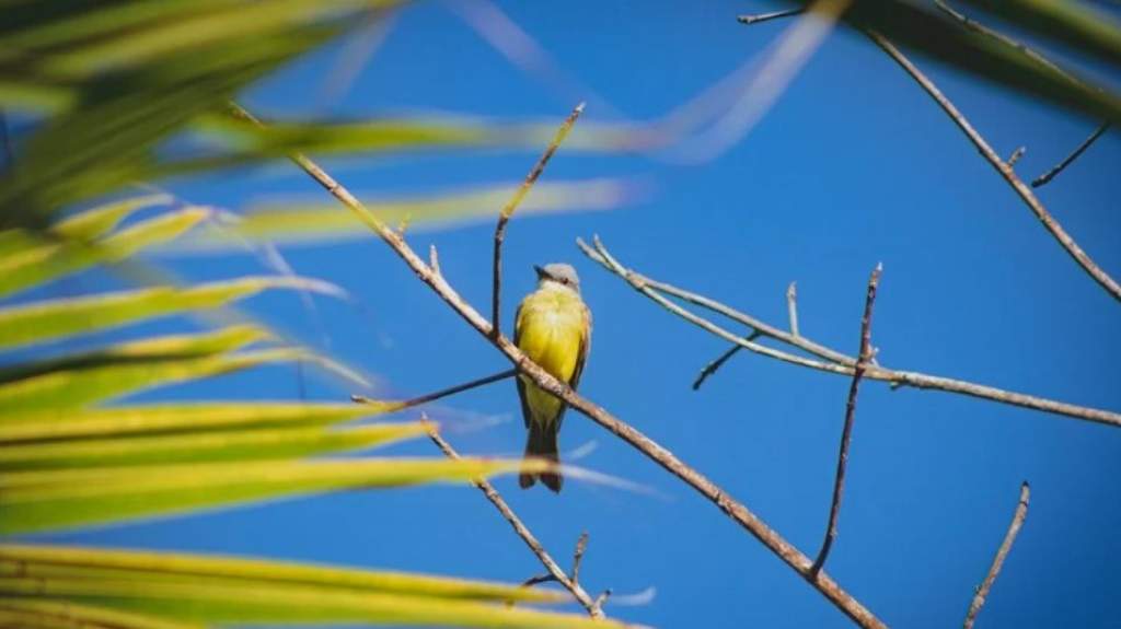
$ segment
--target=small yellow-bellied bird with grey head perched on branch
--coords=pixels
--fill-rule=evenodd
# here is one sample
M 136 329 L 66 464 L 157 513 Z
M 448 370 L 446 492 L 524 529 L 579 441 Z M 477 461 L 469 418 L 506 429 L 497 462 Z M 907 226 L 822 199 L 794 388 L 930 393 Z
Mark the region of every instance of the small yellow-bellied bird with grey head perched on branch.
M 547 264 L 534 266 L 534 270 L 537 271 L 537 290 L 518 306 L 513 342 L 530 360 L 576 388 L 592 344 L 592 313 L 580 298 L 580 278 L 568 264 Z M 526 457 L 559 462 L 557 433 L 565 403 L 525 375 L 519 375 L 517 381 L 521 413 L 529 429 Z M 532 487 L 538 478 L 553 491 L 560 491 L 559 472 L 522 473 L 518 485 L 522 489 Z

